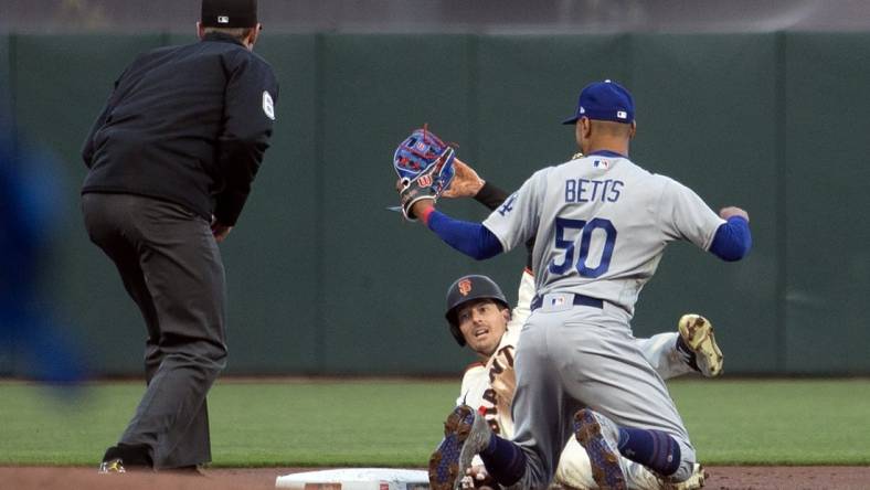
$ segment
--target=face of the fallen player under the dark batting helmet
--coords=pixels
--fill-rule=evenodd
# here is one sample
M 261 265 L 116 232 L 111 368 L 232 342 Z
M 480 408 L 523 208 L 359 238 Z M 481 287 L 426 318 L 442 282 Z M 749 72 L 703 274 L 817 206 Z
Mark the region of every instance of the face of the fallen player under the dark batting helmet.
M 469 301 L 456 311 L 465 342 L 482 356 L 490 356 L 508 328 L 510 310 L 490 299 Z

